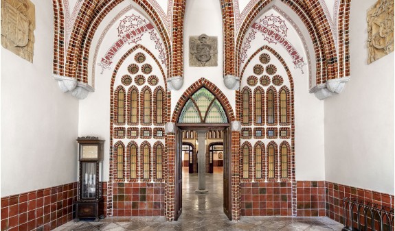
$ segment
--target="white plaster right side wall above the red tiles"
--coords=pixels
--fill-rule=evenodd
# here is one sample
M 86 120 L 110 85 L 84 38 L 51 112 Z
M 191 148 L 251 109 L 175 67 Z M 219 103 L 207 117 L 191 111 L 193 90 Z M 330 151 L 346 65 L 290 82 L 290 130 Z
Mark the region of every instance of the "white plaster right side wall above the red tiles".
M 326 180 L 394 195 L 394 52 L 367 64 L 374 3 L 351 3 L 351 80 L 324 102 Z

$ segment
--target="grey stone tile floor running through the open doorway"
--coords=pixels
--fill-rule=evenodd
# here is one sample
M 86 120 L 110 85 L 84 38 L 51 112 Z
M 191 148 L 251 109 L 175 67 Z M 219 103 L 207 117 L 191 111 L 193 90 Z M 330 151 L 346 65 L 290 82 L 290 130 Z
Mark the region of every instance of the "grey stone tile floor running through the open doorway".
M 165 217 L 107 217 L 98 222 L 70 221 L 56 231 L 124 231 L 124 230 L 282 230 L 333 231 L 343 226 L 328 217 L 241 217 L 229 221 L 223 213 L 223 175 L 221 171 L 206 175 L 209 193 L 196 195 L 197 174 L 183 171 L 183 212 L 178 221 Z

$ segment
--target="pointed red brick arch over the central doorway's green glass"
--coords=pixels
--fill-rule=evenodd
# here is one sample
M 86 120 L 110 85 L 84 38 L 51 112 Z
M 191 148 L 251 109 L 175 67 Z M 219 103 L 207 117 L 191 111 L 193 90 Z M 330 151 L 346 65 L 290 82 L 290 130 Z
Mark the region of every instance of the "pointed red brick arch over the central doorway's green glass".
M 181 111 L 183 110 L 183 106 L 185 106 L 189 97 L 192 96 L 197 90 L 199 90 L 202 87 L 207 88 L 207 90 L 210 90 L 210 92 L 213 95 L 216 95 L 218 101 L 221 103 L 221 106 L 223 106 L 223 109 L 227 114 L 228 121 L 229 122 L 235 121 L 236 117 L 234 116 L 232 106 L 227 100 L 227 97 L 223 94 L 223 92 L 219 88 L 217 88 L 215 84 L 202 77 L 200 80 L 194 82 L 194 84 L 192 84 L 187 90 L 185 90 L 183 95 L 180 97 L 173 111 L 173 116 L 171 120 L 172 123 L 176 123 L 177 120 L 179 119 Z

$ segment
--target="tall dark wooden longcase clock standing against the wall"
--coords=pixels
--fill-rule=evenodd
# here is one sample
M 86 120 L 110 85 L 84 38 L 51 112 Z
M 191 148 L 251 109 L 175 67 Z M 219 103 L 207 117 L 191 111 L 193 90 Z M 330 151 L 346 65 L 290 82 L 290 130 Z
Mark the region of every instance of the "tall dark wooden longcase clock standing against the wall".
M 104 218 L 104 199 L 102 182 L 103 144 L 94 136 L 78 137 L 78 197 L 76 217 L 91 218 L 99 221 Z

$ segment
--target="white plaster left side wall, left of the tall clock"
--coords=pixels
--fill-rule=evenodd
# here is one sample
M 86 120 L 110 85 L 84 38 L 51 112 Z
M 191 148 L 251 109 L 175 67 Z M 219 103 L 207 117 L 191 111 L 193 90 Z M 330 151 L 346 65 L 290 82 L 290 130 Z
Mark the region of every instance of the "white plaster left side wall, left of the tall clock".
M 52 2 L 32 2 L 34 62 L 1 47 L 1 197 L 77 181 L 78 100 L 52 78 Z

